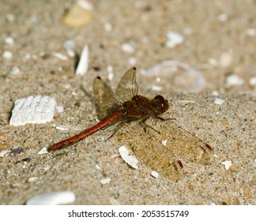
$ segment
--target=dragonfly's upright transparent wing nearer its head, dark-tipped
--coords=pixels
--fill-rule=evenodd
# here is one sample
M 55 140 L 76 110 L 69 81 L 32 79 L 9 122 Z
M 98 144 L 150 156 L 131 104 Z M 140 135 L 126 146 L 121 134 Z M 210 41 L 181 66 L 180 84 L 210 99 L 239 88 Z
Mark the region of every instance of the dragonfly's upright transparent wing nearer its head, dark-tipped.
M 121 81 L 119 81 L 116 95 L 124 100 L 128 100 L 137 96 L 137 91 L 136 68 L 131 68 L 126 71 Z

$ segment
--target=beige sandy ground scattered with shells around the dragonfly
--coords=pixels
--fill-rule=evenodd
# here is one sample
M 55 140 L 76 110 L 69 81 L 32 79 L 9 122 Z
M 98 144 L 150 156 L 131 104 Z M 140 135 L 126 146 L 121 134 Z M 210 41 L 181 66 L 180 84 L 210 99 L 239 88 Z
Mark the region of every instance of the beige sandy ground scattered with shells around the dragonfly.
M 81 28 L 62 24 L 66 1 L 1 4 L 0 54 L 11 51 L 13 57 L 0 57 L 0 144 L 14 152 L 0 158 L 0 204 L 24 204 L 38 194 L 63 190 L 75 193 L 73 204 L 256 204 L 256 89 L 250 84 L 256 69 L 255 2 L 91 3 L 92 22 Z M 106 24 L 111 24 L 111 32 Z M 183 43 L 165 47 L 168 31 L 182 34 Z M 13 45 L 5 42 L 7 37 L 14 39 Z M 73 58 L 63 61 L 53 55 L 68 56 L 62 46 L 67 39 L 73 40 L 79 53 L 88 44 L 89 66 L 84 77 L 75 76 Z M 122 51 L 123 43 L 132 45 L 134 52 Z M 143 81 L 140 71 L 139 86 L 144 95 L 161 93 L 168 98 L 168 116 L 213 147 L 212 163 L 183 162 L 183 177 L 178 182 L 163 176 L 152 178 L 146 165 L 134 170 L 122 161 L 118 136 L 104 140 L 111 128 L 70 148 L 37 154 L 44 146 L 77 133 L 55 129 L 53 123 L 78 130 L 94 125 L 93 79 L 98 75 L 107 79 L 111 65 L 115 77 L 108 83 L 116 86 L 126 69 L 134 66 L 134 59 L 139 70 L 178 60 L 201 71 L 207 84 L 198 94 L 146 90 L 150 82 Z M 13 73 L 13 66 L 20 72 Z M 243 83 L 228 86 L 231 73 Z M 214 103 L 213 92 L 223 104 Z M 49 123 L 9 125 L 14 101 L 37 95 L 55 97 L 64 111 L 56 111 Z M 140 137 L 136 131 L 130 133 L 137 144 Z M 221 164 L 227 160 L 232 161 L 229 170 Z M 111 182 L 102 185 L 106 177 Z

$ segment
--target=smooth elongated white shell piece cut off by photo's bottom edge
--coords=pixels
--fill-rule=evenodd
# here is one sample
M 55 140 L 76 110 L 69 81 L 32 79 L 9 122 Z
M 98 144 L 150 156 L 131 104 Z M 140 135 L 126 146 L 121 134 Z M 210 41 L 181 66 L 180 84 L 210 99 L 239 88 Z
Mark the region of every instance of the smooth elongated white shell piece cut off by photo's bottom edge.
M 72 191 L 43 193 L 27 200 L 26 205 L 72 204 L 76 199 Z

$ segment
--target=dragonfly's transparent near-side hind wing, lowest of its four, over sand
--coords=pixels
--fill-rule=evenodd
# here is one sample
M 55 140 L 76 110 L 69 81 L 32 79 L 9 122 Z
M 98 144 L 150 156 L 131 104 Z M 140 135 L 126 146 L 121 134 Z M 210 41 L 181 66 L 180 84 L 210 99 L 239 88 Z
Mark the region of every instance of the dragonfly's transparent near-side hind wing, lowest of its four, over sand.
M 126 145 L 137 160 L 146 167 L 155 170 L 170 181 L 177 181 L 181 177 L 183 170 L 178 159 L 168 152 L 156 137 L 153 137 L 149 129 L 145 130 L 143 126 L 138 126 L 137 122 L 131 122 L 129 125 L 124 125 L 116 137 L 119 143 Z

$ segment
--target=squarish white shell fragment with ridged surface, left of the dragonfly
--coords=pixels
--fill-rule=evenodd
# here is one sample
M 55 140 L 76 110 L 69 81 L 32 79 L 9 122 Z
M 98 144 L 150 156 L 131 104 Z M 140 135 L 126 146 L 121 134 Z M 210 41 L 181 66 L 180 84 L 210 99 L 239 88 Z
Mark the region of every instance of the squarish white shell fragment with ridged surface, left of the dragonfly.
M 9 125 L 40 124 L 50 122 L 55 114 L 55 98 L 28 96 L 14 103 Z

